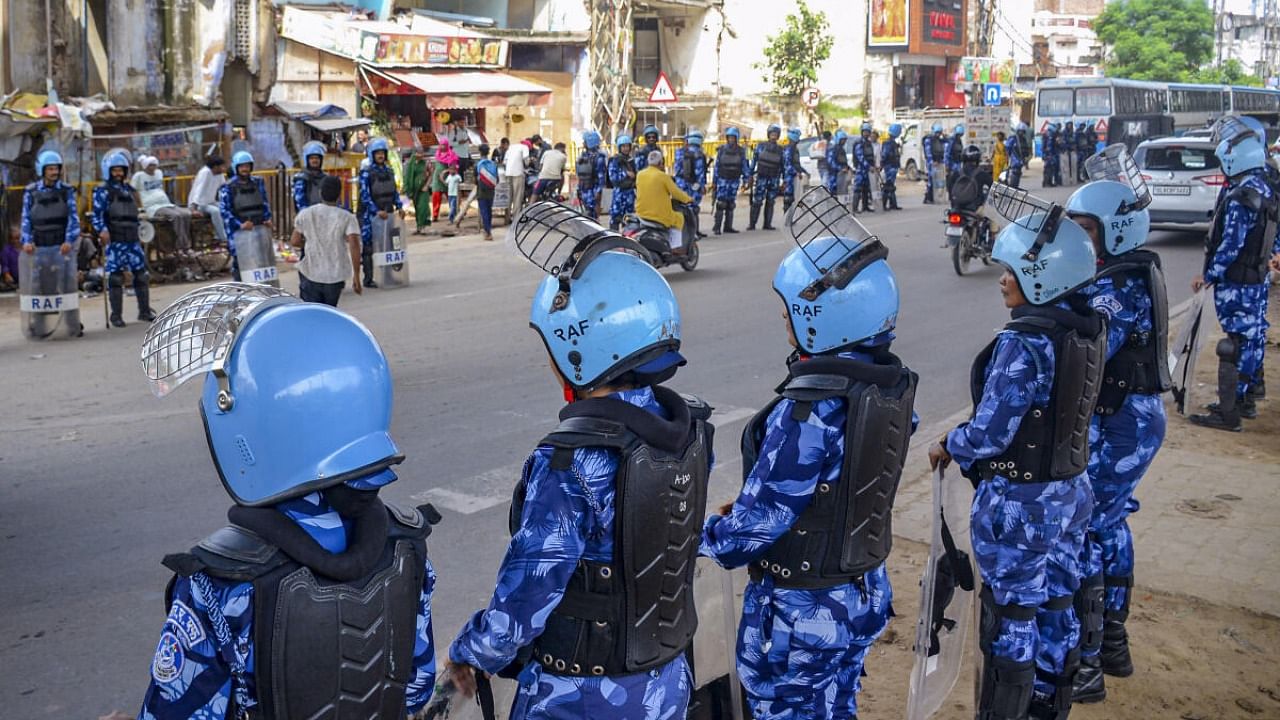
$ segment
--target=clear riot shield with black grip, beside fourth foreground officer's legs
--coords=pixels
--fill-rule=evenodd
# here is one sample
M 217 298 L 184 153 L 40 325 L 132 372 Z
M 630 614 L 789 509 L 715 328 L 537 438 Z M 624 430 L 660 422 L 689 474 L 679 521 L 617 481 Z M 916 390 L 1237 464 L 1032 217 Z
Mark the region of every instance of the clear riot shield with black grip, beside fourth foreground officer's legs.
M 933 532 L 920 579 L 908 720 L 925 720 L 942 707 L 960 678 L 965 653 L 975 647 L 978 583 L 969 541 L 972 502 L 968 482 L 948 480 L 942 469 L 933 473 Z

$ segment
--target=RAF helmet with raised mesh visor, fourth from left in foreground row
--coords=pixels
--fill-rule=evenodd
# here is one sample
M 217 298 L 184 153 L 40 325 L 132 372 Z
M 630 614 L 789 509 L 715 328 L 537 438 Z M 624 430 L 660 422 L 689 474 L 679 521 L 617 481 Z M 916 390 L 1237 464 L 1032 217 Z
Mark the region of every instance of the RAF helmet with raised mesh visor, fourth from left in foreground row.
M 1004 183 L 996 183 L 988 197 L 1011 220 L 996 236 L 991 259 L 1014 274 L 1028 302 L 1048 305 L 1093 281 L 1098 264 L 1093 242 L 1061 205 Z

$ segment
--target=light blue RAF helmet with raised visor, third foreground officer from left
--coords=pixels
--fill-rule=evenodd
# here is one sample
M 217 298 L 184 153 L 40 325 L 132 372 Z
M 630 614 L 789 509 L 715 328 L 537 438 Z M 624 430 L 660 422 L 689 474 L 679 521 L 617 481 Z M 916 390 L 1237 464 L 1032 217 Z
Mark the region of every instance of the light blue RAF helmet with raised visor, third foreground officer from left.
M 832 352 L 890 332 L 897 324 L 897 279 L 888 249 L 824 187 L 787 213 L 796 247 L 773 275 L 797 348 Z

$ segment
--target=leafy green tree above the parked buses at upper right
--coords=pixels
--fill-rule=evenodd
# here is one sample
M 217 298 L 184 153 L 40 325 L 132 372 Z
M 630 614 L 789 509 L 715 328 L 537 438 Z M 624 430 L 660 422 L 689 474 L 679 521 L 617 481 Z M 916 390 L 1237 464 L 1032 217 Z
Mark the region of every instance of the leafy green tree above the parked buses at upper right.
M 1093 29 L 1111 77 L 1178 81 L 1213 54 L 1213 13 L 1204 0 L 1117 0 Z

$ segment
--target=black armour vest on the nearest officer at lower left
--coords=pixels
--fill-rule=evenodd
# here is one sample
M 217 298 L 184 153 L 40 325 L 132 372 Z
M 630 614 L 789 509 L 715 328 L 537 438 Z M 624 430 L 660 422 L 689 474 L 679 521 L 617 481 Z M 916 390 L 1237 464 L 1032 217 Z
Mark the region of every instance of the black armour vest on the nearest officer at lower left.
M 164 564 L 183 577 L 253 583 L 253 716 L 402 717 L 435 509 L 375 498 L 338 555 L 274 509 L 228 516 L 232 525 Z

